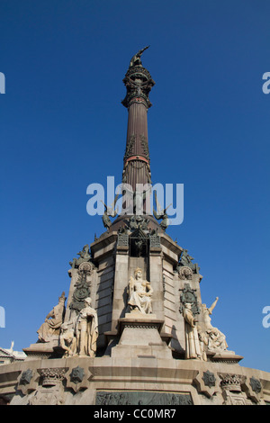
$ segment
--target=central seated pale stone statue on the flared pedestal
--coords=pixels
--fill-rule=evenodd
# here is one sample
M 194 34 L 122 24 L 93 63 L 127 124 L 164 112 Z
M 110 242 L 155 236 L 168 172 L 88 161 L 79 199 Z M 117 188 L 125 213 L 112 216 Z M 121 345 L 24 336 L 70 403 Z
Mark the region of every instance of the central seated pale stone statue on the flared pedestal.
M 152 313 L 153 289 L 148 281 L 142 279 L 142 270 L 139 267 L 134 272 L 134 278 L 130 276 L 129 291 L 128 304 L 131 311 L 136 310 L 143 314 Z

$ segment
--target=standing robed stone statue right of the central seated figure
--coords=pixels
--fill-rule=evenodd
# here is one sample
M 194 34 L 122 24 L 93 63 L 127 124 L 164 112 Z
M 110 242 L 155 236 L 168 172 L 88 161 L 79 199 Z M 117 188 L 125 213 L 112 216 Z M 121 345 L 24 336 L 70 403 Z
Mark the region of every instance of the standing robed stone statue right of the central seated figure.
M 193 316 L 191 302 L 185 302 L 183 307 L 184 334 L 185 334 L 185 358 L 202 360 L 201 341 L 196 327 L 197 320 Z

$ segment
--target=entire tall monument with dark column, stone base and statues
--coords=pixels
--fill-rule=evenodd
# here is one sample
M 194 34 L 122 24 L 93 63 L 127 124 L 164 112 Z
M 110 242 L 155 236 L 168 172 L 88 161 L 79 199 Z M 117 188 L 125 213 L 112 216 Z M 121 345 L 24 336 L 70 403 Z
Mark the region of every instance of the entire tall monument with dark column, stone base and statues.
M 69 262 L 37 325 L 23 362 L 0 367 L 0 394 L 11 405 L 263 405 L 270 374 L 241 366 L 214 310 L 202 302 L 202 275 L 187 249 L 170 238 L 156 195 L 148 148 L 149 94 L 155 85 L 140 49 L 123 79 L 128 110 L 118 214 L 104 204 L 104 232 Z M 51 309 L 51 310 L 50 310 Z

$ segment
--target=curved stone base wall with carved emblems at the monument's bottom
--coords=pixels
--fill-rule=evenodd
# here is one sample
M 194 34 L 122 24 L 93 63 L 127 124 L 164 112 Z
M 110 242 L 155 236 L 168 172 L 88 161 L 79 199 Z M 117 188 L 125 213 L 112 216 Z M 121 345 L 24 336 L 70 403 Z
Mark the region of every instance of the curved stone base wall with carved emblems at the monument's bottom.
M 195 359 L 40 358 L 0 366 L 0 392 L 11 405 L 264 405 L 270 374 Z

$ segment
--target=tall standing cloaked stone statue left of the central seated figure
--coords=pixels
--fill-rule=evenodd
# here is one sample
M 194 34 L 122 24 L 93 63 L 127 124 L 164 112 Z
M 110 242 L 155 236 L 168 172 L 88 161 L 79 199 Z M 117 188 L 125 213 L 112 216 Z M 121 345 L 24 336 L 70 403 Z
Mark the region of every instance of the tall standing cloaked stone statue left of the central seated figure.
M 79 312 L 76 320 L 76 354 L 94 357 L 98 338 L 98 322 L 96 311 L 91 307 L 91 298 L 85 298 L 85 307 Z

